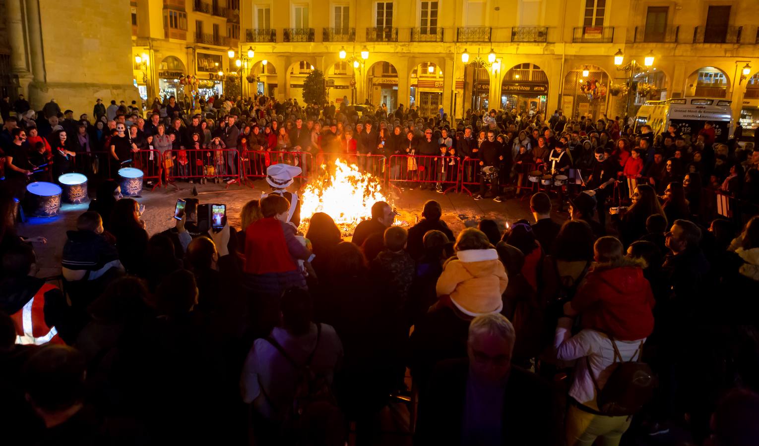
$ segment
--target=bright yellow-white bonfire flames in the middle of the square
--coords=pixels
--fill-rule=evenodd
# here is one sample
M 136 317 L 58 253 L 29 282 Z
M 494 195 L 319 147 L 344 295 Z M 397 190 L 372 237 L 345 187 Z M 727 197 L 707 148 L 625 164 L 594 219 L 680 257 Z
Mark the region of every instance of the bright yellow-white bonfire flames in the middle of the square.
M 329 166 L 332 170 L 332 166 Z M 379 179 L 372 174 L 361 173 L 357 166 L 335 159 L 332 172 L 322 165 L 325 173 L 311 181 L 301 193 L 301 231 L 308 228 L 310 216 L 324 212 L 339 226 L 345 236 L 352 235 L 356 225 L 371 218 L 372 205 L 378 201 L 388 202 L 381 192 Z

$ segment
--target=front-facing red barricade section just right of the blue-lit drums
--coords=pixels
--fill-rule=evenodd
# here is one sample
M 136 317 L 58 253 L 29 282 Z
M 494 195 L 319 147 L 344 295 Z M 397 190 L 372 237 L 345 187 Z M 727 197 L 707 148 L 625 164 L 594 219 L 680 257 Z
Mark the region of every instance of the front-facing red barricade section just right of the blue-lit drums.
M 201 178 L 231 180 L 227 187 L 241 182 L 241 159 L 237 149 L 166 150 L 162 161 L 166 180 L 171 184 Z

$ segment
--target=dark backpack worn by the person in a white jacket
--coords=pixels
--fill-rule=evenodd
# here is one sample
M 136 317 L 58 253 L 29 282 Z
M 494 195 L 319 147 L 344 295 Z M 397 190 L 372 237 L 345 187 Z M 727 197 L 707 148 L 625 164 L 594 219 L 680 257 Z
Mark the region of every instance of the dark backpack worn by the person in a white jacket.
M 614 338 L 609 337 L 614 348 L 614 363 L 616 368 L 603 389 L 598 388 L 598 382 L 591 369 L 591 361 L 585 356 L 587 372 L 596 387 L 596 403 L 598 410 L 606 416 L 630 416 L 638 412 L 653 397 L 653 389 L 657 387 L 657 378 L 647 363 L 641 362 L 643 341 L 629 361 L 623 361 L 617 349 Z M 635 356 L 638 360 L 635 361 Z

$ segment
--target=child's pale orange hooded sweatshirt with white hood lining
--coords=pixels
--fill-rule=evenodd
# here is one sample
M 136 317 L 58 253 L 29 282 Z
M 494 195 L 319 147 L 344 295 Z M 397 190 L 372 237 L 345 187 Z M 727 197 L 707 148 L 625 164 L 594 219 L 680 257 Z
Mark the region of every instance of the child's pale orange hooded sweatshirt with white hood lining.
M 501 311 L 501 295 L 508 284 L 496 250 L 461 250 L 443 265 L 436 293 L 449 295 L 462 313 L 479 316 Z

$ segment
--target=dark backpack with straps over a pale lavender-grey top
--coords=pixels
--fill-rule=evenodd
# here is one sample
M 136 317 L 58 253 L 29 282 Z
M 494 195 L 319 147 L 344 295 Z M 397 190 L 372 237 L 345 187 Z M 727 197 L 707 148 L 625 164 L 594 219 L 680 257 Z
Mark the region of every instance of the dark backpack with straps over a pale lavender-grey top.
M 344 423 L 329 381 L 326 376 L 314 372 L 311 368 L 311 361 L 319 347 L 321 333 L 322 326 L 317 324 L 317 342 L 303 364 L 296 363 L 272 336 L 264 338 L 297 372 L 292 406 L 289 410 L 285 410 L 282 422 L 282 435 L 284 438 L 289 438 L 293 444 L 312 444 L 313 438 L 323 437 L 325 428 L 331 427 L 332 429 L 329 430 L 334 431 L 337 429 L 335 426 L 342 426 Z M 272 407 L 279 410 L 263 391 L 263 387 L 261 387 L 261 393 Z M 339 438 L 339 434 L 334 434 L 335 432 L 332 432 L 329 436 Z

